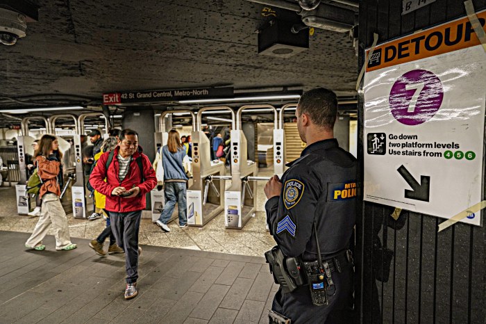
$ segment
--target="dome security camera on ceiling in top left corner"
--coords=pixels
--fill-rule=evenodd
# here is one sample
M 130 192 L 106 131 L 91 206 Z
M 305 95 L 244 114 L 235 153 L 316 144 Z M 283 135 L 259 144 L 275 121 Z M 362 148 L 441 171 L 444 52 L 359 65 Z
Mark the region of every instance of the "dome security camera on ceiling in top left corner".
M 26 17 L 21 13 L 0 8 L 0 43 L 13 45 L 17 39 L 25 37 Z

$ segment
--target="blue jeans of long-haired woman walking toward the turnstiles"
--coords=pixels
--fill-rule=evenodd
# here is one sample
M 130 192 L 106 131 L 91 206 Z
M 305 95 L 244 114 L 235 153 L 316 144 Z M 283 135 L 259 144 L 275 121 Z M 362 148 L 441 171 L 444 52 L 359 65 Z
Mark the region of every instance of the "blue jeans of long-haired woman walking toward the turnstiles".
M 176 203 L 179 206 L 179 225 L 184 226 L 187 224 L 187 200 L 185 198 L 186 193 L 185 182 L 165 182 L 164 195 L 165 205 L 159 220 L 164 224 L 169 222 L 172 212 Z

